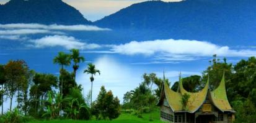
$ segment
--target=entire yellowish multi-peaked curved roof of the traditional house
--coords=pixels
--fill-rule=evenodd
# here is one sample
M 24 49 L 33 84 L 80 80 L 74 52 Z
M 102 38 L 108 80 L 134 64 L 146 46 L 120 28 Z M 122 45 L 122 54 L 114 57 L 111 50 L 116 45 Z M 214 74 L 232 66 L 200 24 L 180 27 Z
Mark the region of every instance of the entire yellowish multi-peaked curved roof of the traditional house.
M 205 84 L 205 87 L 200 92 L 188 92 L 183 88 L 182 84 L 182 78 L 180 77 L 179 80 L 179 92 L 175 92 L 174 90 L 170 89 L 169 85 L 164 81 L 163 87 L 162 87 L 162 93 L 166 95 L 166 99 L 170 105 L 170 108 L 174 112 L 188 112 L 188 113 L 195 113 L 201 105 L 206 100 L 206 97 L 208 95 L 209 89 L 209 77 L 208 81 Z M 182 103 L 180 102 L 182 100 L 182 95 L 187 93 L 190 95 L 190 98 L 188 99 L 188 105 L 187 105 L 187 111 L 183 110 Z M 164 94 L 161 94 L 161 98 L 164 97 Z M 225 81 L 224 81 L 224 74 L 223 79 L 221 80 L 221 83 L 219 84 L 219 87 L 212 92 L 210 92 L 211 100 L 213 101 L 214 106 L 216 106 L 221 111 L 231 111 L 234 112 L 234 110 L 231 108 L 229 101 L 227 100 L 226 96 L 226 88 L 225 88 Z M 158 105 L 160 105 L 159 100 Z

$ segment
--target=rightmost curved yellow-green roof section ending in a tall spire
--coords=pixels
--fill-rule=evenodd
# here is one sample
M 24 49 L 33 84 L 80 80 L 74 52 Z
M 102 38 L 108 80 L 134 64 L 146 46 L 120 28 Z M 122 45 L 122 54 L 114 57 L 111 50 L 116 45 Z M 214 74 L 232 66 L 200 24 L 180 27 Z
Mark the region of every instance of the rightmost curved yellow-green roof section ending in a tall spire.
M 211 92 L 211 100 L 213 101 L 214 106 L 216 106 L 221 111 L 233 111 L 229 101 L 227 100 L 227 93 L 225 87 L 225 74 L 221 79 L 219 87 Z

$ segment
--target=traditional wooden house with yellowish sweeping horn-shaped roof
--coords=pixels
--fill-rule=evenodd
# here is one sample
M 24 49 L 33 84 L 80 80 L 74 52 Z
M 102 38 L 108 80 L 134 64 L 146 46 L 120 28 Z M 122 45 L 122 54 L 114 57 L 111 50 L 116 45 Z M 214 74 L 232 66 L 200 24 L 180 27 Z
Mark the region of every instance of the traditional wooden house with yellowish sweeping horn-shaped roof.
M 181 103 L 185 93 L 190 95 L 186 107 Z M 235 119 L 235 111 L 227 100 L 224 74 L 219 86 L 213 91 L 209 89 L 209 79 L 205 87 L 196 93 L 183 89 L 181 77 L 177 92 L 164 83 L 157 105 L 161 106 L 161 120 L 167 122 L 229 123 Z

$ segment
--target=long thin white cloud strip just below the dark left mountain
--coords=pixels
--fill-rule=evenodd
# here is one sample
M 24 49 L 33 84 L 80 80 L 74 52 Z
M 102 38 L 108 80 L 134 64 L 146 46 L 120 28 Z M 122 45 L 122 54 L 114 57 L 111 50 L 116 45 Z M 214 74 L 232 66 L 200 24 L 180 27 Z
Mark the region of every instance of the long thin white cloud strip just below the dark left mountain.
M 99 28 L 98 26 L 92 25 L 42 25 L 37 23 L 14 23 L 14 24 L 6 24 L 0 25 L 0 28 L 5 29 L 44 29 L 44 30 L 68 30 L 68 31 L 107 31 L 110 30 L 108 28 Z

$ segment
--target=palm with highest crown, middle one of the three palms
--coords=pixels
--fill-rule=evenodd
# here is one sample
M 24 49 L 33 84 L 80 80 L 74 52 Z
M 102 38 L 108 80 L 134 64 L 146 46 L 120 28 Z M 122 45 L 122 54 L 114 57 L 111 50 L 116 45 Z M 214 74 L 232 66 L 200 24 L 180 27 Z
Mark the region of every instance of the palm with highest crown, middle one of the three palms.
M 80 62 L 85 62 L 86 59 L 85 59 L 84 57 L 81 57 L 81 56 L 80 56 L 79 49 L 71 49 L 70 52 L 71 52 L 70 58 L 71 58 L 71 60 L 73 60 L 73 62 L 74 62 L 74 65 L 73 65 L 73 69 L 74 69 L 74 81 L 76 81 L 76 71 L 77 71 L 77 69 L 79 68 L 78 63 L 80 63 Z

